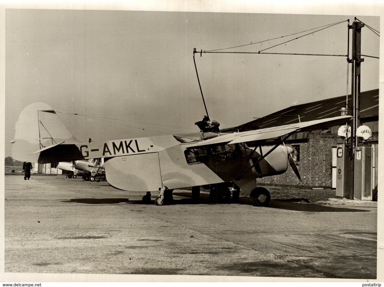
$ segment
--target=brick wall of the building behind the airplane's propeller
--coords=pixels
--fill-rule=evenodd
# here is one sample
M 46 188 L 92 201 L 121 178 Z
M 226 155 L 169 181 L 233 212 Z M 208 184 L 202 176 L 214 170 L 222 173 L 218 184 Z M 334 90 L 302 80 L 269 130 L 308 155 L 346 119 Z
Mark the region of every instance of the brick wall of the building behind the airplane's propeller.
M 284 185 L 303 187 L 328 187 L 332 186 L 332 147 L 340 140 L 337 134 L 321 134 L 309 132 L 308 142 L 300 144 L 300 161 L 296 162 L 301 180 L 293 172 L 290 165 L 282 175 L 258 178 L 258 185 Z M 288 144 L 286 144 L 289 146 Z

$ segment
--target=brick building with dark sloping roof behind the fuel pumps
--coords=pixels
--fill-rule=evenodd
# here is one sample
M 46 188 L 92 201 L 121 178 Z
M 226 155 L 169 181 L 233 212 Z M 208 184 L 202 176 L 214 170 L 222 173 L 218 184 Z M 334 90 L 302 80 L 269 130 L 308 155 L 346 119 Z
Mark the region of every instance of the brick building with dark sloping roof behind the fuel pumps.
M 348 104 L 351 106 L 351 95 L 348 97 Z M 326 117 L 341 115 L 340 109 L 345 106 L 346 96 L 334 97 L 322 101 L 310 102 L 297 106 L 291 106 L 281 111 L 266 115 L 252 122 L 224 129 L 223 132 L 245 131 L 263 129 L 275 125 L 291 124 L 295 121 L 310 121 Z M 351 115 L 351 111 L 348 112 Z M 379 90 L 361 92 L 360 104 L 360 125 L 367 125 L 372 131 L 372 137 L 367 141 L 375 150 L 374 164 L 378 160 L 379 140 Z M 336 188 L 336 144 L 342 139 L 337 135 L 339 126 L 330 127 L 325 130 L 313 132 L 302 132 L 293 134 L 285 144 L 293 148 L 293 158 L 300 172 L 301 181 L 298 180 L 293 170 L 288 167 L 282 175 L 267 176 L 259 178 L 258 184 L 271 184 L 282 186 L 303 186 L 303 187 L 328 187 Z M 279 139 L 271 139 L 265 145 L 274 145 Z M 249 144 L 252 146 L 252 143 Z M 375 169 L 374 182 L 377 184 L 377 169 Z

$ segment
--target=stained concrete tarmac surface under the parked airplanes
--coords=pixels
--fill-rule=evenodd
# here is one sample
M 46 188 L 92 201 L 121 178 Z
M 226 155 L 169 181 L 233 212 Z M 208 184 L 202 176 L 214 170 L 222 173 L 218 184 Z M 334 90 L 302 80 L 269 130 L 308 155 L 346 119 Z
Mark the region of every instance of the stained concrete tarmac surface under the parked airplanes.
M 377 202 L 174 203 L 63 175 L 5 176 L 5 272 L 376 279 Z

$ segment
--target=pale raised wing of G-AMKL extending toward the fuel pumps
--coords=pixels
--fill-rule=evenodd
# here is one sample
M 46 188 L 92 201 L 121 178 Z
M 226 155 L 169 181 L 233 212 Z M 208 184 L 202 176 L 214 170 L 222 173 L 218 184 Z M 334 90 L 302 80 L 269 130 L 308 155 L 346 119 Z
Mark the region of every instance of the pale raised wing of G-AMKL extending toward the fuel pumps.
M 280 125 L 278 127 L 269 127 L 266 129 L 250 130 L 247 132 L 237 132 L 233 134 L 225 134 L 214 139 L 204 140 L 202 142 L 190 143 L 186 147 L 198 147 L 202 145 L 210 145 L 217 143 L 239 143 L 239 142 L 253 142 L 257 140 L 274 139 L 291 132 L 308 132 L 311 130 L 319 130 L 335 125 L 343 125 L 349 120 L 353 119 L 350 115 L 342 115 L 339 117 L 332 117 L 320 120 L 311 120 L 309 122 L 300 122 L 296 124 Z

